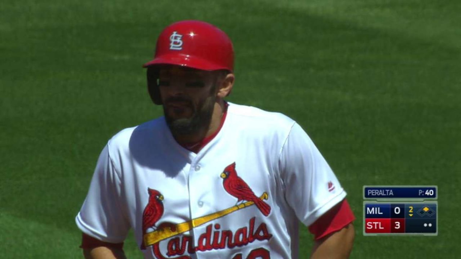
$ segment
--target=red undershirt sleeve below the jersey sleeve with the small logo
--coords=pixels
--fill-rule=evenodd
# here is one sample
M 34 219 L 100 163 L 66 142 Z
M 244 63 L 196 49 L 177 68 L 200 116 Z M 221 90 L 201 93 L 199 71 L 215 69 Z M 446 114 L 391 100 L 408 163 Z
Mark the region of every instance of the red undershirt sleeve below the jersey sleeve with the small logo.
M 329 211 L 309 226 L 309 232 L 319 240 L 326 235 L 341 230 L 355 220 L 354 212 L 346 199 L 333 206 Z

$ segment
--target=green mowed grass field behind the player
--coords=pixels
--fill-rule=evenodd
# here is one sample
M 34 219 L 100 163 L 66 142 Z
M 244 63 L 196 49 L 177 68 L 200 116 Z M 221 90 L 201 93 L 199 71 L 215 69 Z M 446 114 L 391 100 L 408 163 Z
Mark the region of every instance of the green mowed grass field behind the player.
M 2 1 L 0 258 L 82 258 L 74 217 L 98 154 L 161 115 L 141 65 L 189 18 L 234 41 L 229 100 L 296 119 L 324 154 L 357 217 L 351 258 L 460 258 L 460 13 L 459 0 Z M 363 185 L 438 185 L 438 236 L 363 236 Z M 131 235 L 125 250 L 141 258 Z

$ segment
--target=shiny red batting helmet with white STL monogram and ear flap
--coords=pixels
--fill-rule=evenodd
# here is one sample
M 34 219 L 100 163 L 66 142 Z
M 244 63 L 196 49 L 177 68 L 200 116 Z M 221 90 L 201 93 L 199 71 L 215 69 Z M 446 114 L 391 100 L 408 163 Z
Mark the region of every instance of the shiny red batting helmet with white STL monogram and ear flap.
M 158 65 L 232 72 L 234 49 L 225 32 L 212 24 L 186 20 L 167 26 L 157 39 L 154 59 L 143 65 L 148 68 L 148 89 L 155 104 L 161 104 Z

